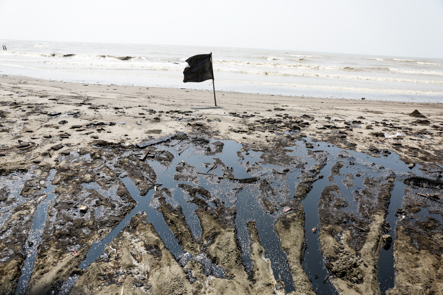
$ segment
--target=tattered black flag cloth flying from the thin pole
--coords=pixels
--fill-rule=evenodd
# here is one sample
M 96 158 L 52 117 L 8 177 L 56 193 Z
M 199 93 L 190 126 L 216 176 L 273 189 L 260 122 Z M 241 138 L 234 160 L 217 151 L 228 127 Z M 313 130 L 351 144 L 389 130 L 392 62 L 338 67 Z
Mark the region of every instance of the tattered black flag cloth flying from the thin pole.
M 188 66 L 184 69 L 183 82 L 203 82 L 214 79 L 212 71 L 211 54 L 198 54 L 189 57 L 186 62 Z

